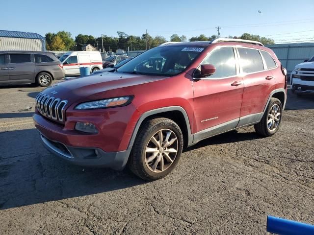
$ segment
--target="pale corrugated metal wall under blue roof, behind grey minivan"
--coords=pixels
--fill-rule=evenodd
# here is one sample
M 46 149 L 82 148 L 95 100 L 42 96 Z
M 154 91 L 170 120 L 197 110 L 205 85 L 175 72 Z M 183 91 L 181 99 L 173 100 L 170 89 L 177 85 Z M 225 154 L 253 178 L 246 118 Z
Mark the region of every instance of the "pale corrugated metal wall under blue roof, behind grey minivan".
M 45 51 L 42 39 L 0 37 L 0 50 L 34 50 Z

